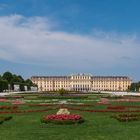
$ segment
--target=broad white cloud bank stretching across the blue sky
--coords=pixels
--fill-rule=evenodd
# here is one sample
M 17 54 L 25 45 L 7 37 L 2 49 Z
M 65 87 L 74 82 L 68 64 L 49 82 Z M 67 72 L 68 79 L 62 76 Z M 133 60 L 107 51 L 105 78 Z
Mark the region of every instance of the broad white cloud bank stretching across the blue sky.
M 48 67 L 135 67 L 140 42 L 135 35 L 55 31 L 46 17 L 0 17 L 0 59 Z M 130 63 L 131 60 L 131 63 Z

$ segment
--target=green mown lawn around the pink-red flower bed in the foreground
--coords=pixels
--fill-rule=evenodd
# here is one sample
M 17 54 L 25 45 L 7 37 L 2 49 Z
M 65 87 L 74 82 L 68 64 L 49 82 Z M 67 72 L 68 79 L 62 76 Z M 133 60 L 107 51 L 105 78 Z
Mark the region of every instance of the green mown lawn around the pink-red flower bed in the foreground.
M 92 99 L 99 99 L 99 96 L 96 95 L 93 98 L 87 99 L 87 101 L 86 99 L 83 99 L 83 103 L 95 104 L 96 101 L 92 101 Z M 71 102 L 81 103 L 82 99 L 73 99 Z M 0 103 L 0 106 L 4 104 L 10 105 L 10 103 Z M 29 107 L 28 104 L 18 105 L 19 109 L 25 110 L 50 108 Z M 35 104 L 35 102 L 30 104 Z M 112 105 L 132 104 L 138 106 L 140 105 L 140 102 L 112 103 Z M 106 106 L 107 105 L 97 105 L 95 107 L 85 107 L 85 109 L 105 109 Z M 113 118 L 110 118 L 113 113 L 70 111 L 71 113 L 80 114 L 85 119 L 85 122 L 74 125 L 41 123 L 40 119 L 43 115 L 56 112 L 57 110 L 41 113 L 1 114 L 0 116 L 12 115 L 13 119 L 0 125 L 0 140 L 139 140 L 140 138 L 140 121 L 119 122 Z

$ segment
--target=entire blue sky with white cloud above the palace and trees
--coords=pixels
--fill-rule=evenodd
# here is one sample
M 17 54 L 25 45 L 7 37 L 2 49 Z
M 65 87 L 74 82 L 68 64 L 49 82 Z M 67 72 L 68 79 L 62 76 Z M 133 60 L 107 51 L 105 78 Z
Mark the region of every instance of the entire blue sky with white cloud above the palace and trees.
M 140 81 L 139 0 L 0 0 L 0 74 Z

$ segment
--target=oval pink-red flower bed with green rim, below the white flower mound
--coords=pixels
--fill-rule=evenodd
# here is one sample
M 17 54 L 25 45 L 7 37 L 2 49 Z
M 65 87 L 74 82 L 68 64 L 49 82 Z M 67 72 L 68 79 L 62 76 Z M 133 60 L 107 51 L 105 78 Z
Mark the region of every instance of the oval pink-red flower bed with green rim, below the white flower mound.
M 43 123 L 55 124 L 75 124 L 84 122 L 83 118 L 77 114 L 51 114 L 43 116 Z

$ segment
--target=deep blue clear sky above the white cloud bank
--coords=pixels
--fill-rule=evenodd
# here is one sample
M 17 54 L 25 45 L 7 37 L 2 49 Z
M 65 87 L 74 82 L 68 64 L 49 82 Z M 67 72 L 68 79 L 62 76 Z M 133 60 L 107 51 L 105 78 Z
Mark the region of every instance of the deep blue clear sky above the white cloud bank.
M 139 0 L 1 0 L 0 15 L 44 16 L 58 30 L 90 33 L 91 29 L 139 32 Z M 75 31 L 76 30 L 76 31 Z

